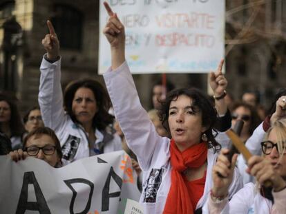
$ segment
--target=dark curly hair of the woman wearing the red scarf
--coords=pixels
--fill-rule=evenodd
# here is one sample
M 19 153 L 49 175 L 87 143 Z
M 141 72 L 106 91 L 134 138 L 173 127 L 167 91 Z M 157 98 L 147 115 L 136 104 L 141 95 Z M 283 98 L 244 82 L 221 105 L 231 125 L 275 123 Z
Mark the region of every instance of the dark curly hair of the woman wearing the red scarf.
M 211 105 L 211 102 L 204 95 L 199 89 L 196 88 L 183 88 L 183 89 L 175 89 L 168 94 L 166 94 L 166 100 L 162 101 L 162 107 L 158 112 L 160 120 L 162 121 L 162 125 L 168 131 L 169 135 L 171 136 L 170 129 L 169 129 L 169 108 L 171 101 L 177 100 L 179 96 L 186 95 L 193 100 L 192 105 L 193 107 L 198 107 L 199 111 L 202 112 L 202 126 L 206 127 L 207 130 L 204 133 L 207 135 L 209 141 L 209 148 L 213 147 L 215 151 L 221 149 L 220 144 L 216 141 L 215 136 L 213 136 L 213 131 L 216 132 L 214 129 L 214 125 L 216 124 L 217 120 L 217 111 Z

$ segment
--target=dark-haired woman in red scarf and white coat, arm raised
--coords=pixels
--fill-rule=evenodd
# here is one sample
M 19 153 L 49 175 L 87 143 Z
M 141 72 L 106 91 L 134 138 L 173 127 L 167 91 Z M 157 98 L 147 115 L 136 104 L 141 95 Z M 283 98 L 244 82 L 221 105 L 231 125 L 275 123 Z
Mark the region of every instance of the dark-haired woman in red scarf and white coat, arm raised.
M 124 25 L 108 3 L 104 6 L 109 14 L 104 34 L 111 45 L 112 62 L 104 81 L 128 147 L 143 171 L 140 202 L 144 213 L 200 213 L 207 206 L 211 169 L 220 149 L 213 136 L 216 109 L 200 90 L 176 89 L 166 94 L 160 110 L 171 139 L 159 136 L 140 103 L 125 61 Z M 227 85 L 222 64 L 211 75 L 216 105 Z M 242 187 L 238 173 L 233 178 L 230 195 Z

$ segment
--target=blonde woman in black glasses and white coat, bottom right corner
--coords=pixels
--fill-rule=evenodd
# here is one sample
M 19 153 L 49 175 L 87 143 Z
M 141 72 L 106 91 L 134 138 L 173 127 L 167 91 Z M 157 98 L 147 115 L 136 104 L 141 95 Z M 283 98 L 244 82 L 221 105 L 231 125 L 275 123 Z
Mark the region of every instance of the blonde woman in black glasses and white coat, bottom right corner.
M 286 119 L 276 120 L 266 139 L 260 143 L 263 156 L 252 156 L 248 161 L 247 172 L 256 177 L 257 184 L 245 184 L 230 202 L 229 184 L 237 155 L 230 163 L 227 150 L 222 150 L 213 167 L 209 213 L 286 213 Z M 270 188 L 264 186 L 266 181 L 271 182 Z

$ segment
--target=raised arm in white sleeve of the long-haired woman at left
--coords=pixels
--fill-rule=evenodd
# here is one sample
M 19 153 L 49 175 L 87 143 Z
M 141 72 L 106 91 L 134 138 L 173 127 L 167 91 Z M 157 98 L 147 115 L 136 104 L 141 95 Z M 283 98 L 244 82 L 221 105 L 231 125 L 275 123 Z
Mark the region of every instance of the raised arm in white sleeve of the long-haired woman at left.
M 39 105 L 44 124 L 59 131 L 64 122 L 63 97 L 61 92 L 61 61 L 59 40 L 50 21 L 47 21 L 49 34 L 41 41 L 46 54 L 41 62 L 39 85 Z

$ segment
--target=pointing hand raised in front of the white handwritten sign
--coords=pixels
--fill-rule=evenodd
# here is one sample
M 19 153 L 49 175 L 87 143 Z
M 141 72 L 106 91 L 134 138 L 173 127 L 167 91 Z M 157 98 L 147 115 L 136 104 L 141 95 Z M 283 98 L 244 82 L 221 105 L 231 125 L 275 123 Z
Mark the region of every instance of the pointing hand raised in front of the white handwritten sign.
M 111 47 L 125 48 L 125 31 L 124 25 L 118 19 L 117 14 L 111 10 L 111 7 L 104 1 L 104 7 L 109 15 L 109 19 L 103 30 L 106 39 L 111 44 Z

